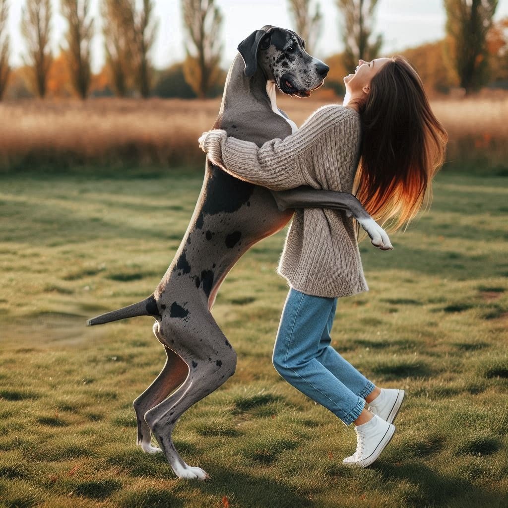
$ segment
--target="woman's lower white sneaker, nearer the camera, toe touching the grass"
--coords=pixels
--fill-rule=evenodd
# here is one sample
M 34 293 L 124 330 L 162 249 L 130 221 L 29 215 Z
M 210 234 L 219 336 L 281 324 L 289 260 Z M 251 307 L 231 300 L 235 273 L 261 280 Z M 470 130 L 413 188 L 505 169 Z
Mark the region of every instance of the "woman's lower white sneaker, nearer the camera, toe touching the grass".
M 342 462 L 346 465 L 367 467 L 379 457 L 390 442 L 395 432 L 395 425 L 373 415 L 367 423 L 356 425 L 355 432 L 356 452 Z

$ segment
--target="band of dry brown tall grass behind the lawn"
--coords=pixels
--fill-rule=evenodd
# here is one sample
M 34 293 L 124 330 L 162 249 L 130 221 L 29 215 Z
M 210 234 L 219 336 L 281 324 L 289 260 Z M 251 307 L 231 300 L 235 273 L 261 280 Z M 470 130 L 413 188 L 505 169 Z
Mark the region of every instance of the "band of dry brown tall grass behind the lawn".
M 329 96 L 281 97 L 298 123 Z M 0 165 L 24 170 L 41 165 L 202 164 L 198 137 L 210 129 L 219 100 L 23 101 L 0 104 Z M 454 167 L 506 168 L 508 99 L 438 100 L 432 103 L 450 134 Z

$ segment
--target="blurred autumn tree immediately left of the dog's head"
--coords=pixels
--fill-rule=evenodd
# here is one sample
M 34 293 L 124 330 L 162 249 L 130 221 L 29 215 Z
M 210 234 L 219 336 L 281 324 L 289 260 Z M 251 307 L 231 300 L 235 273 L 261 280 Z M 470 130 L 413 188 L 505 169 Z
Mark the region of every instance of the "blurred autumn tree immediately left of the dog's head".
M 214 0 L 182 0 L 182 12 L 187 35 L 185 81 L 204 98 L 220 77 L 222 43 L 218 34 L 223 16 Z

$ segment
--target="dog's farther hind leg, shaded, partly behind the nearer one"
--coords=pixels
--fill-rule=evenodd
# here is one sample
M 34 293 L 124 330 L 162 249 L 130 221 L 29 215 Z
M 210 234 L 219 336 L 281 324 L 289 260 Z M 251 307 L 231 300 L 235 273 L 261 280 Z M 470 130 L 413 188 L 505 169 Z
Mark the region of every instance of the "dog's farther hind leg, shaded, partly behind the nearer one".
M 162 337 L 158 332 L 158 322 L 153 325 L 153 333 L 159 341 Z M 153 383 L 134 401 L 133 406 L 136 411 L 136 420 L 138 422 L 138 444 L 146 453 L 160 452 L 160 448 L 151 445 L 151 431 L 145 421 L 145 413 L 162 402 L 173 390 L 178 388 L 188 375 L 187 364 L 173 350 L 163 343 L 166 350 L 166 363 L 154 379 Z

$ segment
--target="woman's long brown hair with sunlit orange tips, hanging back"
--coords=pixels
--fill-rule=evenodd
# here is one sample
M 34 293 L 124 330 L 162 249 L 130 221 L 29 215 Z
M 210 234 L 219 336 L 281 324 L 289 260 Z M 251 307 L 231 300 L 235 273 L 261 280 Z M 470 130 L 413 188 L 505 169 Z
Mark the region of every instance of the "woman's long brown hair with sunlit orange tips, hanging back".
M 353 194 L 380 226 L 397 231 L 430 204 L 431 180 L 444 162 L 448 134 L 403 56 L 385 63 L 370 88 L 360 106 L 363 141 Z

